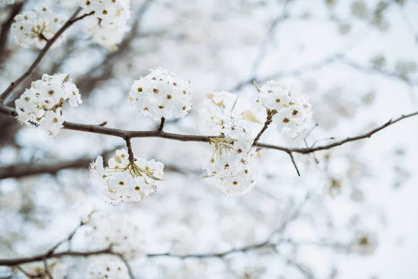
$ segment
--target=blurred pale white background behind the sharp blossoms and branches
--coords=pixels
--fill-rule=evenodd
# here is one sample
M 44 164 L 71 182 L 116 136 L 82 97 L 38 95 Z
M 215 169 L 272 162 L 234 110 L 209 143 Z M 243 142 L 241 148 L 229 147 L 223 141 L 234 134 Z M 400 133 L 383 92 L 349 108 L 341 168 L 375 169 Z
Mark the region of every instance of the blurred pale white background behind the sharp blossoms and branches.
M 27 0 L 21 8 L 37 3 Z M 73 1 L 42 3 L 64 17 L 76 8 Z M 43 73 L 70 73 L 84 103 L 64 107 L 68 121 L 152 130 L 159 123 L 135 111 L 127 93 L 139 75 L 161 65 L 190 80 L 194 91 L 190 115 L 166 123 L 172 133 L 201 134 L 199 103 L 207 93 L 225 90 L 244 99 L 255 91 L 253 80 L 261 85 L 270 78 L 309 96 L 318 127 L 295 140 L 269 128 L 265 143 L 325 144 L 417 110 L 416 0 L 134 0 L 131 6 L 131 29 L 118 50 L 95 44 L 77 22 L 10 105 Z M 13 7 L 1 5 L 2 26 Z M 38 54 L 10 37 L 1 50 L 1 91 Z M 370 139 L 315 153 L 319 163 L 312 154 L 295 154 L 300 177 L 287 153 L 261 149 L 261 178 L 240 197 L 226 197 L 202 178 L 208 144 L 134 139 L 135 155 L 162 161 L 166 179 L 142 202 L 110 206 L 100 183 L 88 179 L 88 163 L 123 147 L 123 140 L 71 130 L 48 138 L 0 115 L 0 258 L 45 252 L 94 210 L 141 229 L 130 240 L 143 250 L 130 261 L 137 278 L 418 278 L 417 127 L 417 118 L 406 119 Z M 242 251 L 277 229 L 282 241 L 275 249 Z M 91 250 L 95 241 L 81 228 L 72 247 Z M 234 248 L 226 257 L 147 256 Z M 92 260 L 53 261 L 54 278 L 91 278 Z M 21 268 L 42 276 L 42 266 Z M 25 276 L 1 266 L 0 278 Z

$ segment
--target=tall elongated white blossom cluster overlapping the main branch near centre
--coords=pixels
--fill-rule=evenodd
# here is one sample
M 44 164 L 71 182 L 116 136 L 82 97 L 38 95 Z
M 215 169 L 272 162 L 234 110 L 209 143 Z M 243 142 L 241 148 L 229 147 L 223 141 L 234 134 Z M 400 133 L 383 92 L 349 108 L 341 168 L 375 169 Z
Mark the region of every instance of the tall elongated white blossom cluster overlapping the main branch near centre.
M 206 177 L 226 195 L 244 195 L 254 188 L 258 175 L 251 130 L 242 115 L 233 111 L 235 102 L 226 107 L 226 103 L 236 100 L 233 94 L 221 91 L 208 94 L 206 99 L 200 118 L 209 119 L 210 128 L 220 126 L 219 137 L 210 139 L 214 151 L 209 163 L 203 167 Z

